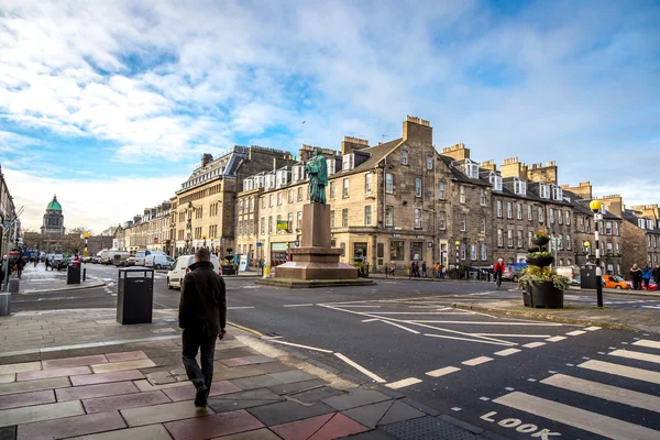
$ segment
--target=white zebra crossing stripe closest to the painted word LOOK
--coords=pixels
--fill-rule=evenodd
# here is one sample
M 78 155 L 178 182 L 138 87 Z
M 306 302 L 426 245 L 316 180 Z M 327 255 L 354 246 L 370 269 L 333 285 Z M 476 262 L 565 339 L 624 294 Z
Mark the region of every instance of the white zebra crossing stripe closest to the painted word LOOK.
M 525 413 L 534 414 L 535 416 L 569 425 L 578 429 L 583 429 L 608 439 L 660 439 L 660 431 L 520 392 L 504 395 L 493 402 L 509 408 L 519 409 Z

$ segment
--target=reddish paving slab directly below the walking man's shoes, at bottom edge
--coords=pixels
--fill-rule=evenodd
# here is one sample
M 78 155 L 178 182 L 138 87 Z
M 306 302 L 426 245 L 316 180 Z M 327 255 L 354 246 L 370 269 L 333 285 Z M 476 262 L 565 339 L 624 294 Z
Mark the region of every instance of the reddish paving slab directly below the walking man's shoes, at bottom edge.
M 165 428 L 169 431 L 174 440 L 204 440 L 212 437 L 252 431 L 264 428 L 264 425 L 248 411 L 241 409 L 196 419 L 172 421 L 165 424 Z

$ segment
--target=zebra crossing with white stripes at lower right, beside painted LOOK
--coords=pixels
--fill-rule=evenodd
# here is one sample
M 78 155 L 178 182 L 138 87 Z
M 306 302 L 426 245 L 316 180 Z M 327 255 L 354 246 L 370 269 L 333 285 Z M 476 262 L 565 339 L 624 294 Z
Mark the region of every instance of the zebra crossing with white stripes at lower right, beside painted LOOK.
M 548 373 L 521 389 L 506 387 L 481 420 L 510 438 L 660 439 L 660 342 L 640 339 Z M 542 422 L 551 428 L 541 431 Z

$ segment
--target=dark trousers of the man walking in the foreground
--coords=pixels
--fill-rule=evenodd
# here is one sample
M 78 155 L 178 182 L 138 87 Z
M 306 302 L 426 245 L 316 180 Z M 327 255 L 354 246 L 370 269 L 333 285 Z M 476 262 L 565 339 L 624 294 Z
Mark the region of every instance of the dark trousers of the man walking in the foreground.
M 184 330 L 183 334 L 183 355 L 184 366 L 188 378 L 193 381 L 196 388 L 206 385 L 211 391 L 213 380 L 213 353 L 216 352 L 216 338 L 209 337 L 199 331 Z M 200 352 L 200 365 L 197 363 L 197 351 Z

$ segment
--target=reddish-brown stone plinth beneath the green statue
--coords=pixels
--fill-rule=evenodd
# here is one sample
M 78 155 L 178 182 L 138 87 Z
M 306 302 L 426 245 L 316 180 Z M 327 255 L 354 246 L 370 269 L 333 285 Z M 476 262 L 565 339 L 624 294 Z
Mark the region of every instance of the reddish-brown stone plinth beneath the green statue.
M 290 250 L 293 261 L 277 266 L 275 278 L 358 279 L 358 268 L 340 263 L 342 251 L 330 243 L 330 206 L 305 205 L 301 246 Z

